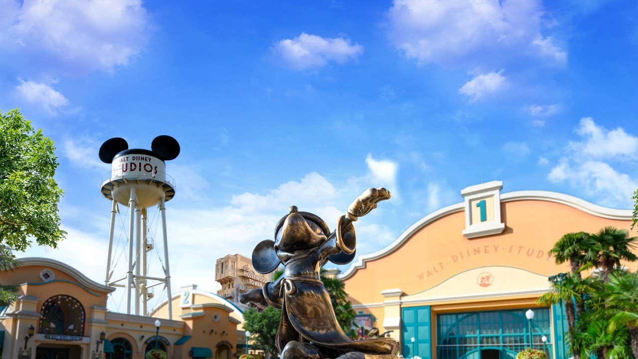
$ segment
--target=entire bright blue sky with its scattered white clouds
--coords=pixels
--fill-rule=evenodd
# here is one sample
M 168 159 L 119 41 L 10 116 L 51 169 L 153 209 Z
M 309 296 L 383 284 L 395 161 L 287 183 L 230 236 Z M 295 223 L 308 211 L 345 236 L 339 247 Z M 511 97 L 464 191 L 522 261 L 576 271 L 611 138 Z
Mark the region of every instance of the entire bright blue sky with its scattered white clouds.
M 181 142 L 174 286 L 216 289 L 214 259 L 249 255 L 291 204 L 334 227 L 371 186 L 394 197 L 359 222 L 359 253 L 483 181 L 613 208 L 638 187 L 633 1 L 0 0 L 0 13 L 0 109 L 56 141 L 66 191 L 67 240 L 26 255 L 95 280 L 110 211 L 97 151 L 115 136 Z

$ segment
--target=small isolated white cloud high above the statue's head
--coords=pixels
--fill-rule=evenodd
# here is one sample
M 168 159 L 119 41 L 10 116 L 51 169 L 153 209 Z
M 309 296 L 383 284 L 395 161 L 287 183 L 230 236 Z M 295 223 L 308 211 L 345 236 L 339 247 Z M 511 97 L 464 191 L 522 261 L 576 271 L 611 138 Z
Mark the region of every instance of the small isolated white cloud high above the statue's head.
M 345 38 L 322 38 L 301 33 L 275 45 L 276 54 L 294 70 L 320 68 L 330 62 L 346 63 L 363 53 L 363 47 Z

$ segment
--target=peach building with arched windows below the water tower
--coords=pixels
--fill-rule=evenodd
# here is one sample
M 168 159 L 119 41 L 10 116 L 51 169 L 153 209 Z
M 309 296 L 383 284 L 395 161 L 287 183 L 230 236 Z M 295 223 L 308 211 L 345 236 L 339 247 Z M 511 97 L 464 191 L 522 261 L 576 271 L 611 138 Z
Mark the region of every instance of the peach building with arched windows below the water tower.
M 19 262 L 13 271 L 0 271 L 0 283 L 18 290 L 17 301 L 0 312 L 2 358 L 142 359 L 158 348 L 172 359 L 231 359 L 239 350 L 241 311 L 197 286 L 187 287 L 188 298 L 186 289 L 174 296 L 179 320 L 165 319 L 166 302 L 151 316 L 135 316 L 107 310 L 115 288 L 67 264 L 47 258 Z

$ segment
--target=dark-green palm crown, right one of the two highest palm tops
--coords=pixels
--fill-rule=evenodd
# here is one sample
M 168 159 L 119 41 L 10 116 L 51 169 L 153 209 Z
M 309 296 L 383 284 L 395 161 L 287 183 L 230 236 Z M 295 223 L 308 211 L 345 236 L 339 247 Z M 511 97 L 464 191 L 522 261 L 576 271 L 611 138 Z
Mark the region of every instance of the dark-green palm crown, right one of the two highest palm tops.
M 633 252 L 638 238 L 630 237 L 625 229 L 604 227 L 598 233 L 590 234 L 588 240 L 591 242 L 585 259 L 600 268 L 605 282 L 614 269 L 621 268 L 621 261 L 638 260 Z

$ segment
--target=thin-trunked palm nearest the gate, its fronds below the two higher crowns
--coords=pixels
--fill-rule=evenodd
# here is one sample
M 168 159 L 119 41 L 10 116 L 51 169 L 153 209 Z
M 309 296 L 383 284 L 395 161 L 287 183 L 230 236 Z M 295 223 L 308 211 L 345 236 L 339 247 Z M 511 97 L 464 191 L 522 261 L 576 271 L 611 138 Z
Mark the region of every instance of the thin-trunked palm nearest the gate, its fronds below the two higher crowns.
M 574 300 L 576 302 L 582 302 L 582 294 L 586 291 L 586 282 L 582 280 L 579 275 L 575 273 L 569 273 L 565 276 L 561 276 L 560 280 L 552 282 L 551 291 L 543 294 L 538 298 L 538 305 L 551 305 L 566 303 L 565 316 L 567 316 L 567 327 L 570 333 L 570 338 L 574 339 L 576 317 L 574 312 L 574 305 L 569 305 Z M 581 358 L 581 351 L 577 340 L 571 341 L 571 350 L 575 359 Z

